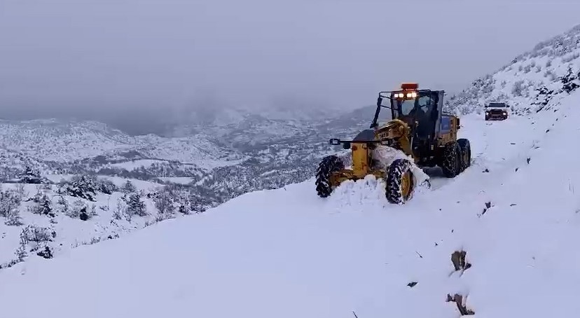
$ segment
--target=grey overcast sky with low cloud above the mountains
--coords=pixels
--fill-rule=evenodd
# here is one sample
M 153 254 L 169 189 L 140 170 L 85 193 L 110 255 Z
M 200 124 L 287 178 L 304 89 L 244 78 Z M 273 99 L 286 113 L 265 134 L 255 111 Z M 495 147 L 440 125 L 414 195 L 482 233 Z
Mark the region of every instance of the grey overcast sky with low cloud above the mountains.
M 352 109 L 402 81 L 454 92 L 578 12 L 562 0 L 0 0 L 0 117 L 286 97 Z

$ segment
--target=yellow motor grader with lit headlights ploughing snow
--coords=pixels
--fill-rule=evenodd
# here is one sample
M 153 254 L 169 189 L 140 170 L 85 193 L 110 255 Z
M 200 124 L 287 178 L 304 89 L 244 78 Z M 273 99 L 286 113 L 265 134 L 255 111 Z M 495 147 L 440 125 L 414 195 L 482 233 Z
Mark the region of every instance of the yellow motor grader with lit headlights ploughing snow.
M 343 181 L 372 174 L 385 181 L 389 202 L 403 204 L 420 183 L 417 174 L 422 167 L 439 166 L 445 177 L 453 178 L 471 165 L 469 140 L 457 139 L 460 118 L 443 113 L 445 92 L 418 87 L 402 83 L 401 90 L 379 92 L 370 129 L 352 140 L 330 139 L 331 145 L 342 144 L 352 151 L 352 168 L 346 169 L 337 155 L 323 158 L 315 181 L 320 197 L 331 195 Z M 384 153 L 395 155 L 386 158 Z

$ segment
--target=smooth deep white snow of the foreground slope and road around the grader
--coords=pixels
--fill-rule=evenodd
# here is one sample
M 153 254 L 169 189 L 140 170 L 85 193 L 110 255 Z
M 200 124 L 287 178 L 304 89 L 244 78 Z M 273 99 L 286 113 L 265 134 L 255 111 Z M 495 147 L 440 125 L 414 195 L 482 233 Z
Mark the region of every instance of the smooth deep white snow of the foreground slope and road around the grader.
M 580 310 L 580 92 L 462 118 L 473 164 L 407 205 L 312 180 L 0 272 L 6 317 L 572 317 Z M 467 252 L 455 270 L 451 256 Z M 41 286 L 41 288 L 39 288 Z M 29 305 L 30 303 L 34 305 Z

